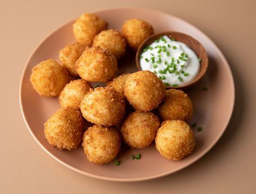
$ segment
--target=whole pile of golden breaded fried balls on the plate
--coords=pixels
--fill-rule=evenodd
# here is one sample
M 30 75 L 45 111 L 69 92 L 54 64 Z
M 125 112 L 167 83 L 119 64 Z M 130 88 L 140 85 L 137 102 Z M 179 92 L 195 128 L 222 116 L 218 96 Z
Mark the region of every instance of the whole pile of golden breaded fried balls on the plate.
M 67 150 L 82 144 L 88 160 L 97 164 L 113 161 L 122 141 L 139 149 L 155 141 L 169 160 L 191 154 L 195 138 L 187 124 L 193 114 L 188 95 L 166 90 L 150 71 L 115 77 L 117 60 L 127 47 L 136 51 L 154 33 L 152 25 L 134 18 L 123 23 L 121 32 L 107 27 L 102 18 L 84 13 L 73 24 L 77 42 L 60 50 L 60 63 L 48 59 L 32 68 L 35 91 L 58 97 L 61 104 L 44 123 L 48 142 Z M 106 87 L 93 88 L 90 82 L 104 82 Z M 86 122 L 94 126 L 84 129 Z

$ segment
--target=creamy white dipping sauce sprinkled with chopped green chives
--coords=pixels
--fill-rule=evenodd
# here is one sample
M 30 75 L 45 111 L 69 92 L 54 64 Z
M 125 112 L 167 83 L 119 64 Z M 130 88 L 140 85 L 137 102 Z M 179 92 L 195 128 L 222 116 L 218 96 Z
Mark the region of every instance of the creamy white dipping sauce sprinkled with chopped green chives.
M 146 47 L 140 56 L 142 70 L 154 72 L 166 86 L 184 86 L 200 70 L 198 56 L 186 44 L 161 37 Z

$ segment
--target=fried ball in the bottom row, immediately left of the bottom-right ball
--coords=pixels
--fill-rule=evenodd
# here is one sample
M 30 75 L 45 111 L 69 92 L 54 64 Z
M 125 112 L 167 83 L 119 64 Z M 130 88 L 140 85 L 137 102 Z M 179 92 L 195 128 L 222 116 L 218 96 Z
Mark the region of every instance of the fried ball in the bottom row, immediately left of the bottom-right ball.
M 123 122 L 121 133 L 131 148 L 146 148 L 155 139 L 160 121 L 153 113 L 134 112 Z

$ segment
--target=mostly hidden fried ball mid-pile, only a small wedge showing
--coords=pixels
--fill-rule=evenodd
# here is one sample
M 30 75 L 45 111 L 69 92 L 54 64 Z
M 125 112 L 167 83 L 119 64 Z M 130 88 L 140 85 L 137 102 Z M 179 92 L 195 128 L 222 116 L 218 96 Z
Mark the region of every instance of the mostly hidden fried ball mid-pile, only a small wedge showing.
M 112 81 L 107 82 L 107 86 L 112 86 L 121 96 L 124 96 L 124 85 L 130 73 L 124 73 L 114 78 Z

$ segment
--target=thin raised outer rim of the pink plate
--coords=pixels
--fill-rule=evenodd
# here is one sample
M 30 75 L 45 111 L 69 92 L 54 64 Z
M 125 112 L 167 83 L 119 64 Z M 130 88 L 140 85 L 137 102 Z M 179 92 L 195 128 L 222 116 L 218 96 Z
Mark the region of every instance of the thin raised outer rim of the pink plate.
M 40 145 L 40 147 L 47 153 L 49 154 L 52 158 L 54 158 L 54 160 L 56 160 L 57 162 L 60 162 L 62 165 L 64 165 L 65 167 L 71 169 L 71 170 L 74 170 L 82 175 L 86 175 L 88 177 L 93 177 L 93 178 L 97 178 L 97 179 L 101 179 L 101 180 L 104 180 L 104 181 L 113 181 L 113 182 L 139 182 L 139 181 L 149 181 L 149 180 L 152 180 L 152 179 L 156 179 L 156 178 L 161 178 L 161 177 L 165 177 L 165 176 L 168 176 L 168 175 L 172 175 L 174 174 L 175 172 L 178 172 L 180 170 L 183 170 L 187 167 L 189 167 L 190 165 L 194 164 L 195 162 L 199 161 L 200 158 L 204 157 L 213 147 L 214 145 L 220 140 L 221 136 L 225 133 L 226 129 L 227 129 L 227 126 L 231 120 L 231 117 L 232 117 L 232 114 L 233 114 L 233 110 L 234 110 L 234 102 L 235 102 L 235 85 L 234 85 L 234 78 L 233 78 L 233 74 L 232 74 L 232 71 L 231 71 L 231 68 L 228 64 L 228 61 L 227 59 L 225 58 L 224 54 L 222 53 L 222 51 L 219 49 L 219 47 L 214 43 L 214 41 L 209 38 L 207 36 L 207 34 L 205 34 L 203 31 L 201 31 L 198 27 L 194 26 L 193 24 L 187 22 L 186 20 L 184 19 L 181 19 L 179 17 L 176 17 L 176 16 L 173 16 L 172 14 L 169 14 L 169 13 L 166 13 L 164 11 L 159 11 L 159 10 L 155 10 L 155 9 L 149 9 L 149 8 L 137 8 L 137 7 L 128 7 L 128 8 L 124 8 L 124 7 L 121 7 L 121 8 L 110 8 L 110 9 L 100 9 L 98 11 L 93 11 L 92 13 L 95 13 L 95 14 L 98 14 L 100 12 L 104 12 L 104 11 L 114 11 L 114 10 L 137 10 L 137 11 L 142 11 L 142 10 L 146 10 L 146 11 L 154 11 L 154 12 L 157 12 L 159 14 L 162 14 L 162 15 L 166 15 L 166 16 L 171 16 L 175 19 L 178 19 L 180 20 L 181 22 L 183 23 L 186 23 L 187 25 L 190 25 L 191 27 L 194 27 L 196 30 L 198 30 L 200 33 L 204 34 L 204 36 L 211 42 L 211 44 L 213 44 L 213 46 L 215 47 L 215 51 L 218 53 L 218 55 L 220 56 L 221 60 L 223 60 L 226 64 L 227 64 L 227 71 L 228 71 L 228 74 L 229 74 L 229 77 L 232 78 L 232 88 L 231 88 L 231 91 L 232 91 L 232 99 L 231 99 L 231 102 L 232 102 L 232 107 L 231 109 L 229 110 L 229 113 L 228 113 L 228 119 L 226 120 L 226 123 L 224 124 L 224 130 L 221 131 L 221 133 L 215 137 L 215 140 L 213 141 L 213 143 L 211 145 L 209 145 L 208 149 L 206 149 L 202 155 L 198 158 L 196 158 L 196 160 L 194 160 L 193 162 L 191 163 L 188 163 L 187 165 L 185 165 L 184 167 L 178 169 L 178 170 L 175 170 L 175 171 L 171 171 L 171 172 L 163 172 L 161 174 L 157 174 L 157 175 L 153 175 L 153 176 L 146 176 L 146 177 L 140 177 L 140 178 L 113 178 L 113 177 L 106 177 L 106 176 L 101 176 L 101 175 L 94 175 L 94 174 L 91 174 L 91 173 L 88 173 L 88 172 L 84 172 L 82 170 L 79 170 L 65 162 L 63 162 L 62 160 L 60 160 L 58 157 L 54 156 L 53 154 L 50 153 L 50 151 L 48 151 L 40 142 L 39 140 L 36 138 L 35 134 L 33 133 L 33 131 L 31 130 L 30 126 L 29 126 L 29 123 L 24 115 L 24 110 L 23 110 L 23 102 L 22 102 L 22 86 L 23 86 L 23 81 L 24 81 L 24 74 L 25 74 L 25 71 L 27 70 L 27 66 L 29 64 L 29 61 L 31 60 L 32 56 L 34 55 L 34 53 L 37 51 L 37 49 L 42 45 L 42 43 L 48 39 L 52 34 L 54 34 L 58 29 L 64 27 L 65 25 L 69 24 L 69 23 L 72 23 L 74 22 L 74 20 L 76 19 L 71 19 L 69 20 L 68 22 L 56 27 L 54 30 L 52 30 L 47 36 L 45 36 L 41 41 L 40 43 L 37 44 L 37 46 L 35 47 L 35 49 L 31 52 L 28 60 L 26 61 L 25 63 L 25 66 L 23 67 L 23 71 L 22 71 L 22 74 L 21 74 L 21 79 L 19 80 L 19 108 L 21 109 L 21 113 L 22 113 L 22 118 L 25 122 L 25 125 L 27 127 L 27 129 L 29 130 L 31 136 L 34 138 L 34 140 L 37 142 L 37 144 Z

